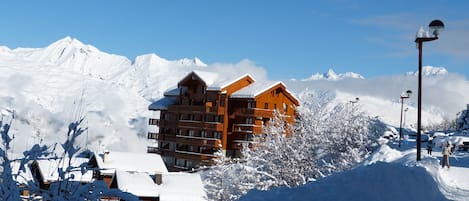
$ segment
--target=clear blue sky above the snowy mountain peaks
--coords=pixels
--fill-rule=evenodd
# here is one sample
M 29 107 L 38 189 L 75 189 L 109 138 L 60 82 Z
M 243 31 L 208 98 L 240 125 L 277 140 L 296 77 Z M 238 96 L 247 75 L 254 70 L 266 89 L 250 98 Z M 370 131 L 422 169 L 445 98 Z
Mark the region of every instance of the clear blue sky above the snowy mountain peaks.
M 441 19 L 446 29 L 424 44 L 423 63 L 469 77 L 467 10 L 463 0 L 3 1 L 0 45 L 45 47 L 71 36 L 130 60 L 248 59 L 271 79 L 329 68 L 372 78 L 416 71 L 415 33 Z

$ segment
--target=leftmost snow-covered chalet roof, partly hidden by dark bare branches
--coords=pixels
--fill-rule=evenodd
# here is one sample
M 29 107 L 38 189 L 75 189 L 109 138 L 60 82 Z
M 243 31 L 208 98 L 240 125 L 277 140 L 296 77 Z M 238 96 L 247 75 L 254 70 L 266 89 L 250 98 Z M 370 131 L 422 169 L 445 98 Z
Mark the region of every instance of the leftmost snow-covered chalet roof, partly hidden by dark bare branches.
M 93 171 L 87 170 L 86 172 L 82 173 L 80 166 L 84 163 L 88 163 L 88 158 L 72 158 L 71 159 L 71 166 L 73 170 L 70 171 L 65 175 L 65 178 L 69 179 L 70 181 L 78 181 L 78 182 L 92 182 L 93 180 Z M 62 168 L 64 171 L 66 170 L 69 164 L 69 159 L 64 158 L 62 159 L 48 159 L 48 160 L 36 160 L 37 166 L 39 168 L 39 172 L 41 173 L 44 182 L 55 182 L 59 180 L 59 172 L 58 169 Z

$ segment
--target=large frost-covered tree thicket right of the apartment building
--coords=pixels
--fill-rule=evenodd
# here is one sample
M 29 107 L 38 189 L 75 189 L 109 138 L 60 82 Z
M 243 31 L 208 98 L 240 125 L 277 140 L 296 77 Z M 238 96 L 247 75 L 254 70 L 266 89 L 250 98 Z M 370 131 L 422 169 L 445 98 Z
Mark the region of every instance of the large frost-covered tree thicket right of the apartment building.
M 284 116 L 276 112 L 252 148 L 244 146 L 242 158 L 208 170 L 218 174 L 206 182 L 218 179 L 230 184 L 224 197 L 210 197 L 213 193 L 207 189 L 209 199 L 235 200 L 253 188 L 295 187 L 364 159 L 377 146 L 384 125 L 360 112 L 358 105 L 334 104 L 334 98 L 327 91 L 300 94 L 295 125 L 285 124 Z

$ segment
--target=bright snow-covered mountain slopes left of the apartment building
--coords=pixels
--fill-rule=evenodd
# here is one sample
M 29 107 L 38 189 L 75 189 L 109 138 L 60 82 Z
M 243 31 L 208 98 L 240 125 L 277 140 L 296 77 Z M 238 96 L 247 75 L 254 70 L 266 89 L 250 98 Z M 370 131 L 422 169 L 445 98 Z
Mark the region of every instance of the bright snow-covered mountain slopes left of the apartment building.
M 169 61 L 155 54 L 131 62 L 70 37 L 44 48 L 3 46 L 0 109 L 15 113 L 18 151 L 60 141 L 64 126 L 79 117 L 86 117 L 88 127 L 83 146 L 143 151 L 150 101 L 206 66 L 198 58 Z

